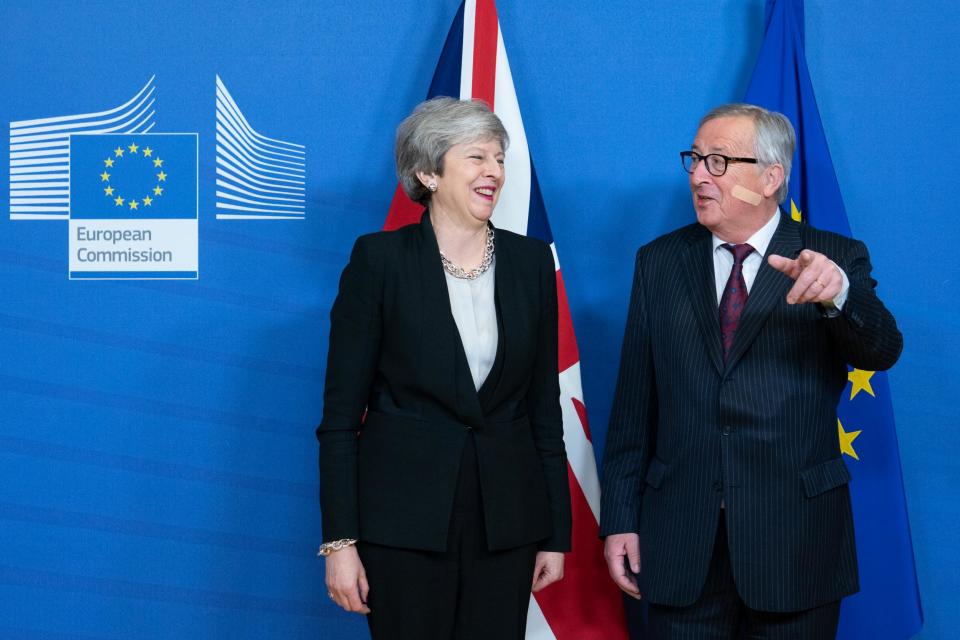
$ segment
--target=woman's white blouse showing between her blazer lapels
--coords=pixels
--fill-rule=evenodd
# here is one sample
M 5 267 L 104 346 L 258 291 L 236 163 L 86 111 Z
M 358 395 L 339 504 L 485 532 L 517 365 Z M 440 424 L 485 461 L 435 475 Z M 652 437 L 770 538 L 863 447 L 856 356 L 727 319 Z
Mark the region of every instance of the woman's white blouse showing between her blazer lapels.
M 456 278 L 446 271 L 450 311 L 457 323 L 473 385 L 480 389 L 497 357 L 497 307 L 494 301 L 493 264 L 476 280 Z

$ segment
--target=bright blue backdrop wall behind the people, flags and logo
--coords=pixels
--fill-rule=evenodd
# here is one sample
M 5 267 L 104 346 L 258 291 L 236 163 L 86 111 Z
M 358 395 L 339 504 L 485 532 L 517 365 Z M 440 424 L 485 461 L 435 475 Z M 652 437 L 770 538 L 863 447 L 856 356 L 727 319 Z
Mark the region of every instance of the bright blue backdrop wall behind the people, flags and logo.
M 742 97 L 763 2 L 498 7 L 600 453 L 633 253 L 692 219 L 677 152 Z M 456 9 L 0 5 L 0 637 L 365 637 L 313 557 L 327 314 Z M 906 338 L 890 386 L 923 638 L 960 628 L 958 27 L 948 0 L 806 7 L 850 224 Z M 217 76 L 254 129 L 303 145 L 302 219 L 217 219 Z M 6 127 L 151 77 L 151 132 L 198 134 L 199 278 L 69 280 L 68 223 L 10 219 Z

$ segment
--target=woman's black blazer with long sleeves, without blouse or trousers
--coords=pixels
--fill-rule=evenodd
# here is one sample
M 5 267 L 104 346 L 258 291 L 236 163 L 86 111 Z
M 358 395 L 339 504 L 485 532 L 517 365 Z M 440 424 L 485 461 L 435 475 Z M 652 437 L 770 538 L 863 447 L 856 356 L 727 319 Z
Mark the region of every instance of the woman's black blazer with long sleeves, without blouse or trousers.
M 501 229 L 495 247 L 499 339 L 477 391 L 429 212 L 357 240 L 330 313 L 317 428 L 324 540 L 444 550 L 473 437 L 490 548 L 570 548 L 553 256 Z

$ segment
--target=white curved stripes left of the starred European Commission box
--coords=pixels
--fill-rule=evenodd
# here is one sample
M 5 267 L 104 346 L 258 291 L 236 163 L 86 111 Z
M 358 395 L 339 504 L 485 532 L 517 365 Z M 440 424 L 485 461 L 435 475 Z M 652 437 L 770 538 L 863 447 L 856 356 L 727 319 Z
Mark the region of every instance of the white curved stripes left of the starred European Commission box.
M 155 77 L 130 100 L 107 111 L 11 122 L 10 219 L 68 219 L 70 135 L 153 129 Z

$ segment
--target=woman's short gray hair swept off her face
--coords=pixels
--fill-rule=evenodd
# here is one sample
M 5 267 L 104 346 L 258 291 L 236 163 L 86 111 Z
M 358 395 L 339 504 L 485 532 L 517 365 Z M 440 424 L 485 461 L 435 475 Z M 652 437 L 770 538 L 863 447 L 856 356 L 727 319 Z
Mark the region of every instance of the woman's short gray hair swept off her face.
M 397 177 L 414 202 L 427 205 L 431 192 L 418 172 L 443 175 L 443 156 L 455 144 L 496 140 L 504 151 L 510 137 L 500 118 L 480 100 L 433 98 L 421 102 L 397 127 Z

